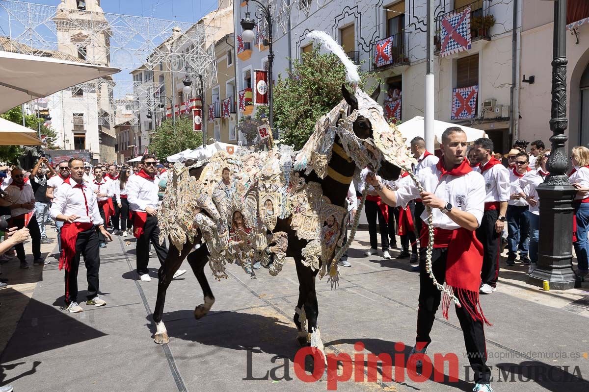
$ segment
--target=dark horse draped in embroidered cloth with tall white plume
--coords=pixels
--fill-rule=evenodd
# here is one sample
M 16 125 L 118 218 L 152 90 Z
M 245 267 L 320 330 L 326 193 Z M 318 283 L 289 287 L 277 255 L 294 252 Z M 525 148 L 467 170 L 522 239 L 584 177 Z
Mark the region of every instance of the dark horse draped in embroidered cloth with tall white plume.
M 368 194 L 366 187 L 344 244 L 349 185 L 364 167 L 395 180 L 401 168 L 411 170 L 415 160 L 376 103 L 380 86 L 372 97 L 359 89 L 357 67 L 327 33 L 314 31 L 307 37 L 321 41 L 341 59 L 355 92 L 342 85 L 343 99 L 317 120 L 299 152 L 288 146 L 262 153 L 238 148 L 232 155 L 217 152 L 190 167 L 176 163 L 158 212 L 160 240 L 167 238 L 171 245 L 158 273 L 155 343 L 169 341 L 162 319 L 166 290 L 184 259 L 203 290 L 204 301 L 194 310 L 200 319 L 215 301 L 204 273 L 207 263 L 220 280 L 227 278 L 227 263 L 255 277 L 253 264 L 259 262 L 276 276 L 284 259 L 293 257 L 299 280 L 293 316 L 297 340 L 323 351 L 316 276 L 327 276 L 332 287 L 337 285 L 337 260 L 353 240 Z

